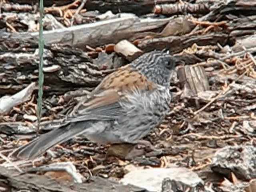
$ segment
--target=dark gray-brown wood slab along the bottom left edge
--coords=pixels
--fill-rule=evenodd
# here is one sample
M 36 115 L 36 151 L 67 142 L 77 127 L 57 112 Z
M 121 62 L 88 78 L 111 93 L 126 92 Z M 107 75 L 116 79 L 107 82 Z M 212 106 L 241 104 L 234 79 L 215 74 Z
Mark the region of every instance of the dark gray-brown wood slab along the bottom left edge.
M 100 177 L 93 177 L 91 182 L 88 183 L 59 183 L 43 175 L 36 174 L 19 174 L 16 170 L 6 169 L 0 166 L 1 182 L 6 184 L 6 188 L 12 188 L 12 191 L 31 192 L 89 192 L 89 191 L 129 191 L 129 192 L 146 192 L 147 190 L 132 186 L 123 185 L 118 182 L 112 182 Z

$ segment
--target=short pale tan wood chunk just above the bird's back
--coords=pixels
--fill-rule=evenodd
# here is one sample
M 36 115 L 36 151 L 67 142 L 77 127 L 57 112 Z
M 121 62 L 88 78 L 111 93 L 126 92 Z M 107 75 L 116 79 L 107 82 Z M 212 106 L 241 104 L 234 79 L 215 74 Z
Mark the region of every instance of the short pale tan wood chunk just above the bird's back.
M 128 61 L 132 61 L 143 54 L 134 44 L 127 40 L 122 40 L 114 46 L 114 51 L 123 55 Z

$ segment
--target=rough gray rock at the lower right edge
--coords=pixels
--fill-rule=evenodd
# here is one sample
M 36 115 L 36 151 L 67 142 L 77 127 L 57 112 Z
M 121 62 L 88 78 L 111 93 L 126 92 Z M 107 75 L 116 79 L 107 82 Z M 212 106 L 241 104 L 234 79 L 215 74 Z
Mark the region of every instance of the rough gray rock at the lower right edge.
M 215 153 L 211 168 L 227 178 L 231 172 L 242 180 L 256 178 L 256 147 L 226 146 Z

